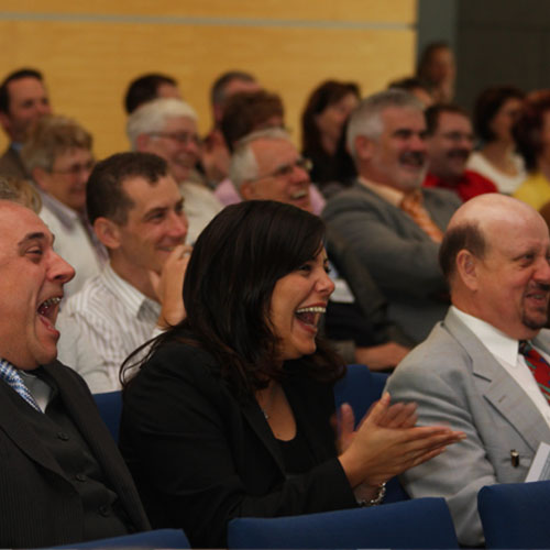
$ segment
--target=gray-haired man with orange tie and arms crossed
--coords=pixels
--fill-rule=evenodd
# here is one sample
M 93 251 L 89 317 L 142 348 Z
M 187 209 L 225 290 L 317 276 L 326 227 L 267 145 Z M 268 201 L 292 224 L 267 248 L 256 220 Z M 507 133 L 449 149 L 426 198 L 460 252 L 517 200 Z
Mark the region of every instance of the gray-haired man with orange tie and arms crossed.
M 427 337 L 449 306 L 438 265 L 439 244 L 461 201 L 446 189 L 422 188 L 426 174 L 422 105 L 403 90 L 362 101 L 348 127 L 359 178 L 331 198 L 323 212 L 331 255 L 350 278 L 360 262 L 388 302 L 388 318 L 415 342 Z M 330 246 L 330 244 L 329 244 Z

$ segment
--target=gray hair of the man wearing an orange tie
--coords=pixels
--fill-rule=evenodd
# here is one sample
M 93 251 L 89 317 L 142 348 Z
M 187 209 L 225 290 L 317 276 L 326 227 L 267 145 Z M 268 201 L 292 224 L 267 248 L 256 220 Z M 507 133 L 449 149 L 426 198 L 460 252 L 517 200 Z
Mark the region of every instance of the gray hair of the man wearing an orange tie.
M 422 103 L 405 90 L 384 90 L 363 99 L 352 112 L 348 124 L 346 144 L 354 160 L 358 154 L 355 139 L 359 135 L 364 135 L 371 140 L 380 138 L 384 131 L 382 111 L 388 107 L 399 107 L 402 109 L 413 109 L 424 112 Z

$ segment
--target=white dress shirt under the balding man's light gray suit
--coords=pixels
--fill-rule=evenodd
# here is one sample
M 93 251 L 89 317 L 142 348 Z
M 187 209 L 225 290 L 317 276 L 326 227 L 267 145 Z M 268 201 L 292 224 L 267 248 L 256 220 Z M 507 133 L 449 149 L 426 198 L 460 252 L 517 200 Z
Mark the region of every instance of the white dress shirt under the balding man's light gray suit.
M 464 314 L 464 311 L 461 311 L 454 306 L 451 307 L 457 317 L 459 317 L 459 319 L 479 338 L 482 344 L 496 359 L 498 364 L 501 364 L 521 387 L 550 427 L 550 406 L 542 395 L 524 355 L 519 353 L 519 341 L 507 337 L 504 332 L 495 329 L 495 327 L 488 322 Z M 550 363 L 550 356 L 542 350 L 535 349 Z

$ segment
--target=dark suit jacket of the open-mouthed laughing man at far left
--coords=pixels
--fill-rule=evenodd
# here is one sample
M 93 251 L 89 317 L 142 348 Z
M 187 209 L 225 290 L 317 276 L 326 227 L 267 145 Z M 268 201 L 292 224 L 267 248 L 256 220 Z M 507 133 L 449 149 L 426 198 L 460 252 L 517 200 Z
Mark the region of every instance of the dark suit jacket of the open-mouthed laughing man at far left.
M 54 378 L 66 409 L 139 530 L 148 521 L 128 469 L 99 417 L 86 383 L 54 362 Z M 52 454 L 36 440 L 0 384 L 0 547 L 35 548 L 81 541 L 80 498 Z

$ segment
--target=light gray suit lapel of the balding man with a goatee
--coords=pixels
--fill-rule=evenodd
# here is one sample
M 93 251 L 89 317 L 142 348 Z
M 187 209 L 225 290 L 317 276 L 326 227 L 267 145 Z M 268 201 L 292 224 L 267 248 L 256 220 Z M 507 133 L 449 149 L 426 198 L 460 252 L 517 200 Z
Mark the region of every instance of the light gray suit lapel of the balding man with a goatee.
M 447 315 L 444 326 L 472 359 L 472 372 L 479 378 L 479 387 L 485 399 L 534 451 L 540 441 L 550 442 L 550 428 L 539 409 L 477 337 L 452 311 Z

